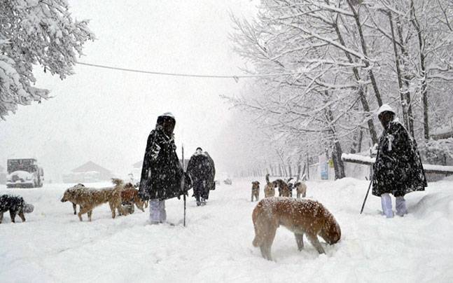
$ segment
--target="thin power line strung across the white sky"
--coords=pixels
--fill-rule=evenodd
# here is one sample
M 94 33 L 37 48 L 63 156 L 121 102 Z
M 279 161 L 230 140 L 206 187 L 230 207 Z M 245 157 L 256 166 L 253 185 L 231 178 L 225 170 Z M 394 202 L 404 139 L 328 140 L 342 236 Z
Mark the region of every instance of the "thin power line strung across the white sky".
M 185 76 L 185 77 L 195 77 L 195 78 L 234 78 L 236 82 L 239 81 L 239 78 L 265 78 L 265 77 L 273 77 L 273 76 L 291 76 L 291 75 L 295 75 L 295 74 L 307 74 L 307 73 L 312 72 L 312 71 L 303 71 L 303 72 L 294 71 L 291 73 L 280 73 L 280 74 L 207 75 L 207 74 L 167 73 L 167 72 L 162 72 L 162 71 L 144 71 L 144 70 L 111 67 L 111 66 L 84 63 L 84 62 L 77 62 L 77 64 L 90 66 L 90 67 L 103 68 L 103 69 L 112 69 L 112 70 L 118 70 L 118 71 L 132 71 L 134 73 L 153 74 L 153 75 L 161 75 L 161 76 Z M 313 71 L 313 72 L 319 72 L 319 71 Z

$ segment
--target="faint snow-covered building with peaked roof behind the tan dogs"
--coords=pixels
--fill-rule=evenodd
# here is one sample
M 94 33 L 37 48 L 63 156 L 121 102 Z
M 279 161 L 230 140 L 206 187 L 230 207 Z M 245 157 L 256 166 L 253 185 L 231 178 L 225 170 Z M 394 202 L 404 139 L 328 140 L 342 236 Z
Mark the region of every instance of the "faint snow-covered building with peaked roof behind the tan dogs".
M 88 161 L 67 174 L 63 174 L 64 183 L 92 183 L 97 181 L 109 181 L 113 178 L 110 170 Z

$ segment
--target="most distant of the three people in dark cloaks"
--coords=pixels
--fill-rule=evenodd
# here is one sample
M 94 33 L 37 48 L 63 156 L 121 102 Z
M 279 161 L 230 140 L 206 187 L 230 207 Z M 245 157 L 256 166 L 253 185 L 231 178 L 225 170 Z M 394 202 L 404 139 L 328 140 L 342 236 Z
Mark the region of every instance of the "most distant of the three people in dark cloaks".
M 201 147 L 198 147 L 193 156 L 190 157 L 187 165 L 187 173 L 190 176 L 193 184 L 193 195 L 197 201 L 197 206 L 206 205 L 206 200 L 209 198 L 209 190 L 214 190 L 216 184 L 214 176 L 216 169 L 214 160 Z

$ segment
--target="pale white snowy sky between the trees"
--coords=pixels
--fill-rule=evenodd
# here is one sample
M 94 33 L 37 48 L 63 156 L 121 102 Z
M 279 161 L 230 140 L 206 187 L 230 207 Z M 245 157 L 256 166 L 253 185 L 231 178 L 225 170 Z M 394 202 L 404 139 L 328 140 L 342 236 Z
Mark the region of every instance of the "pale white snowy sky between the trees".
M 90 19 L 97 36 L 80 62 L 130 69 L 193 74 L 240 74 L 232 53 L 229 13 L 250 18 L 256 1 L 71 0 L 74 18 Z M 197 146 L 213 156 L 234 150 L 219 146 L 231 117 L 219 95 L 235 95 L 232 79 L 175 78 L 77 65 L 64 81 L 36 69 L 37 86 L 53 99 L 19 106 L 0 121 L 0 165 L 7 158 L 36 157 L 47 179 L 92 160 L 123 177 L 144 155 L 157 116 L 176 116 L 176 145 L 186 157 Z M 221 152 L 224 151 L 224 152 Z M 181 157 L 181 156 L 180 156 Z

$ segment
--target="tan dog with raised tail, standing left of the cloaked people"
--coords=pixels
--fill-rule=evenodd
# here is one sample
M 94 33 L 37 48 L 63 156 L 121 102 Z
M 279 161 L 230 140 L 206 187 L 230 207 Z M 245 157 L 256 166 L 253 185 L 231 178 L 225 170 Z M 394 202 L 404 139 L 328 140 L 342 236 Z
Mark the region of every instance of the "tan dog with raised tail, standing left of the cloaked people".
M 123 191 L 123 180 L 112 179 L 115 185 L 108 188 L 83 188 L 81 186 L 74 186 L 64 192 L 62 202 L 72 202 L 75 205 L 80 205 L 81 209 L 78 212 L 78 219 L 82 221 L 82 214 L 88 214 L 88 219 L 91 221 L 92 210 L 109 202 L 112 218 L 116 217 L 115 209 L 118 214 L 124 214 L 123 207 L 121 207 L 121 191 Z

